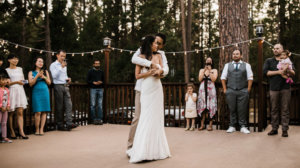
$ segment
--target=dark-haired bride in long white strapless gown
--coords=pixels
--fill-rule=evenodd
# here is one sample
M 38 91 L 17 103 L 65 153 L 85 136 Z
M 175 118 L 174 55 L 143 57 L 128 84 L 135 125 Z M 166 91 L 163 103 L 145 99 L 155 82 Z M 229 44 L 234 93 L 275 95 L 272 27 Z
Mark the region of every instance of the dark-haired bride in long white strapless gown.
M 170 157 L 169 145 L 164 129 L 164 95 L 157 72 L 162 68 L 162 57 L 157 53 L 154 36 L 146 36 L 140 57 L 151 60 L 156 69 L 136 65 L 135 76 L 143 78 L 141 87 L 141 114 L 135 133 L 133 146 L 126 153 L 130 163 L 143 160 L 158 160 Z

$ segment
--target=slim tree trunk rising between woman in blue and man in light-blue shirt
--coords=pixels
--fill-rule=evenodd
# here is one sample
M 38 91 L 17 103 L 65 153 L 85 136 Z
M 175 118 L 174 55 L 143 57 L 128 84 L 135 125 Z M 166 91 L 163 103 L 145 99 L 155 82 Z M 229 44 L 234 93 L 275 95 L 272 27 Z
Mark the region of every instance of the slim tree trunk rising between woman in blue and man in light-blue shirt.
M 45 49 L 47 51 L 51 51 L 51 38 L 50 38 L 50 20 L 49 20 L 49 13 L 48 13 L 48 0 L 45 1 L 45 8 L 44 8 L 44 14 L 45 14 Z M 46 53 L 46 65 L 47 69 L 49 69 L 49 66 L 52 62 L 51 59 L 51 53 Z

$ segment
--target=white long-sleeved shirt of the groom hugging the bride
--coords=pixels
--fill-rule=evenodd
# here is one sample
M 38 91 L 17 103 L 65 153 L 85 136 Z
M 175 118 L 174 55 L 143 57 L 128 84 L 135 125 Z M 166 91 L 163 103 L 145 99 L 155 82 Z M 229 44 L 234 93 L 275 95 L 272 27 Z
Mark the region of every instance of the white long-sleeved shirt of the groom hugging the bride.
M 158 50 L 157 51 L 161 57 L 162 57 L 162 63 L 163 63 L 163 76 L 166 76 L 168 75 L 169 73 L 169 66 L 168 66 L 168 60 L 167 60 L 167 57 L 165 55 L 165 52 L 164 51 L 161 51 L 161 50 Z M 143 66 L 143 67 L 150 67 L 151 66 L 151 61 L 147 60 L 147 59 L 144 59 L 144 58 L 141 58 L 139 57 L 139 55 L 141 54 L 141 50 L 138 49 L 132 56 L 132 59 L 131 59 L 131 62 L 133 64 L 137 64 L 137 65 L 140 65 L 140 66 Z M 136 84 L 135 84 L 135 90 L 137 91 L 141 91 L 141 87 L 142 87 L 142 81 L 143 79 L 138 79 L 136 81 Z

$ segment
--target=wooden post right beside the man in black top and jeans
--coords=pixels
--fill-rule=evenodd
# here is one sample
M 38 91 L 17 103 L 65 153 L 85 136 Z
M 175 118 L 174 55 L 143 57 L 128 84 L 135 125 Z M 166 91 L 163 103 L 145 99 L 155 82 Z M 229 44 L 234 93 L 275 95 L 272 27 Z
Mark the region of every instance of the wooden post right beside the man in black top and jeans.
M 103 93 L 103 120 L 104 122 L 107 122 L 107 114 L 109 111 L 107 111 L 107 104 L 109 101 L 108 98 L 108 83 L 109 83 L 109 53 L 110 53 L 110 47 L 108 46 L 104 50 L 104 93 Z

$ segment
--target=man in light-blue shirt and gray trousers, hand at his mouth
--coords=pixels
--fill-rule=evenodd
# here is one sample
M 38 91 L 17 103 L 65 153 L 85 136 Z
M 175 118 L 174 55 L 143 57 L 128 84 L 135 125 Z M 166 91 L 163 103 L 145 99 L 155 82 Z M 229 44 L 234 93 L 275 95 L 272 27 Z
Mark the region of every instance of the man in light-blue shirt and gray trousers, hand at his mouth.
M 55 97 L 55 118 L 57 129 L 60 131 L 70 131 L 77 125 L 72 122 L 72 101 L 69 90 L 71 78 L 67 74 L 66 52 L 59 50 L 56 54 L 57 60 L 50 65 L 50 72 L 54 83 Z M 64 127 L 64 112 L 66 114 L 66 127 Z

